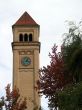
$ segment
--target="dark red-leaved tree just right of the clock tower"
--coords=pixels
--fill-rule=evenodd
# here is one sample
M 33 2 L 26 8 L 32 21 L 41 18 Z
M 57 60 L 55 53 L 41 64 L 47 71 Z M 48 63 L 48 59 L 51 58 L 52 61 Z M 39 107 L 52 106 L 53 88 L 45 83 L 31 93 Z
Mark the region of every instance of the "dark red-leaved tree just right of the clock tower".
M 40 69 L 40 80 L 37 81 L 39 93 L 48 97 L 48 105 L 50 108 L 57 109 L 58 98 L 57 92 L 62 90 L 64 86 L 72 82 L 70 74 L 65 68 L 61 52 L 57 52 L 57 46 L 54 45 L 52 53 L 49 53 L 51 58 L 50 65 Z

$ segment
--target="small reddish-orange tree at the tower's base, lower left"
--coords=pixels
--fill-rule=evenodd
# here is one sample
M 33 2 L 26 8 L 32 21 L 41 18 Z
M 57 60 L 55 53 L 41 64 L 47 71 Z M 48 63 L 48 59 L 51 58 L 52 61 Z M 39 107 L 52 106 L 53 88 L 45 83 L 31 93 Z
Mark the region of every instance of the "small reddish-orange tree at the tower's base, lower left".
M 19 90 L 14 87 L 10 90 L 10 84 L 6 87 L 6 97 L 0 98 L 0 110 L 25 110 L 27 108 L 26 98 L 21 99 Z

